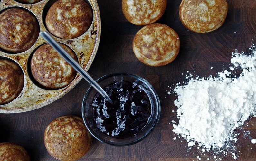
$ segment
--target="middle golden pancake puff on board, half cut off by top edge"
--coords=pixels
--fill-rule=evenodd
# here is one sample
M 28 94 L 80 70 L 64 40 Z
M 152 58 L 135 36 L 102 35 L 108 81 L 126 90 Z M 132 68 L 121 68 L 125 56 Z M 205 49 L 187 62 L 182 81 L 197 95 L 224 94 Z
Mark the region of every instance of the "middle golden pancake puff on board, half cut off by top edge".
M 130 23 L 147 25 L 162 17 L 166 5 L 167 0 L 122 0 L 122 11 Z

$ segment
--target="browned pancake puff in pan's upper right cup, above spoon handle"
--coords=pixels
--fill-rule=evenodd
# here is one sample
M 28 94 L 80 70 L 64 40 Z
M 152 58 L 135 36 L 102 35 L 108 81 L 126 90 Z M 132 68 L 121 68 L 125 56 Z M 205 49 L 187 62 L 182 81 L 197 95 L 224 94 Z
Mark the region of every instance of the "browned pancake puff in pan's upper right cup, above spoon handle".
M 83 0 L 58 0 L 47 12 L 45 23 L 50 33 L 62 39 L 73 39 L 85 33 L 93 13 Z

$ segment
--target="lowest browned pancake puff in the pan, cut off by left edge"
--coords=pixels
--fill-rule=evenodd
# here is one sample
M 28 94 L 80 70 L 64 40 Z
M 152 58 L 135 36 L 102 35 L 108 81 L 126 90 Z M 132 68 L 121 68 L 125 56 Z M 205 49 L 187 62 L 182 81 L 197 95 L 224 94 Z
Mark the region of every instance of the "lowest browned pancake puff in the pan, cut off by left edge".
M 13 61 L 0 59 L 0 104 L 13 101 L 23 86 L 24 75 L 20 66 Z

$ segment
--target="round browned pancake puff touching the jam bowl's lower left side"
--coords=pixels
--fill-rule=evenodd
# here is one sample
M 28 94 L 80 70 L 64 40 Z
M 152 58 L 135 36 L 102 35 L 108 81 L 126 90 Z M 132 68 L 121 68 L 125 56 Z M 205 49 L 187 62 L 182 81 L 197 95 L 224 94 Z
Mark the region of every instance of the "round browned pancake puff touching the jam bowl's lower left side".
M 44 144 L 47 151 L 59 160 L 76 160 L 89 150 L 92 136 L 83 120 L 77 116 L 55 118 L 46 127 Z

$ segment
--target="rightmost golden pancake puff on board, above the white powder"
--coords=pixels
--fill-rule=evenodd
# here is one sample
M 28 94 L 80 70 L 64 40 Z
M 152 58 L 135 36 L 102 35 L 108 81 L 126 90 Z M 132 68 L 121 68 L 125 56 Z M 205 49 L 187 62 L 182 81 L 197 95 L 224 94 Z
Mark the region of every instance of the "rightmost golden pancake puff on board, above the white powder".
M 228 12 L 226 0 L 182 0 L 179 16 L 182 24 L 196 33 L 208 33 L 218 29 Z

